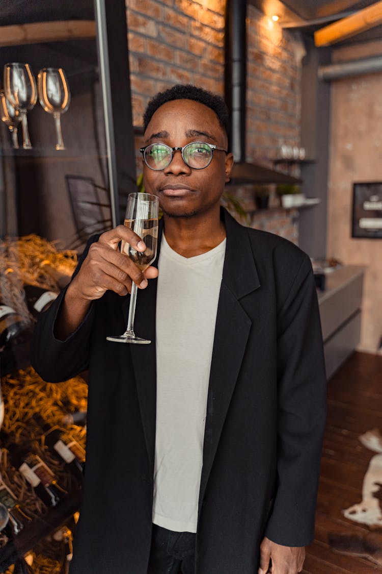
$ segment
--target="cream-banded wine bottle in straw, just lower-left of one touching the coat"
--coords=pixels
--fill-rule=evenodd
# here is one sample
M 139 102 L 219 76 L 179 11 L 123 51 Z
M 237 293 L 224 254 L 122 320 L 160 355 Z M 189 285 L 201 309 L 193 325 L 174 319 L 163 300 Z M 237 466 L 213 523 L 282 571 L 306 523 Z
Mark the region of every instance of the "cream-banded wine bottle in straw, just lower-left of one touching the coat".
M 40 456 L 33 452 L 19 452 L 16 445 L 10 445 L 10 458 L 15 467 L 33 486 L 37 496 L 46 506 L 57 506 L 65 491 L 57 484 L 57 479 Z

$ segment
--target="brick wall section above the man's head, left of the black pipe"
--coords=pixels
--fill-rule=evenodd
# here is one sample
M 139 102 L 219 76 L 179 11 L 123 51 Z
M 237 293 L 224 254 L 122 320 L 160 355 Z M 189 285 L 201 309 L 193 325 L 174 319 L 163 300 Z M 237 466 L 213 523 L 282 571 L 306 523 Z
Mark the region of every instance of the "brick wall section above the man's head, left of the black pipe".
M 208 7 L 207 7 L 208 5 Z M 224 0 L 126 0 L 133 123 L 176 83 L 223 94 Z

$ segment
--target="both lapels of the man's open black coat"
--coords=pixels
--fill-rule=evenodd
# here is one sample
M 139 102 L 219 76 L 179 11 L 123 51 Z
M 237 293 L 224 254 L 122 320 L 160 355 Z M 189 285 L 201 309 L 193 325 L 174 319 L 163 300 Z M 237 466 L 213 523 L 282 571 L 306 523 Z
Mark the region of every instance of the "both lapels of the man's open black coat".
M 208 386 L 199 510 L 251 328 L 251 320 L 239 301 L 260 286 L 247 229 L 223 208 L 221 217 L 226 227 L 227 243 Z M 161 221 L 154 266 L 159 260 L 163 228 Z M 151 344 L 129 346 L 152 476 L 156 417 L 156 287 L 157 281 L 150 280 L 146 289 L 139 290 L 134 323 L 136 334 L 151 339 Z M 124 302 L 125 318 L 128 304 L 129 297 Z

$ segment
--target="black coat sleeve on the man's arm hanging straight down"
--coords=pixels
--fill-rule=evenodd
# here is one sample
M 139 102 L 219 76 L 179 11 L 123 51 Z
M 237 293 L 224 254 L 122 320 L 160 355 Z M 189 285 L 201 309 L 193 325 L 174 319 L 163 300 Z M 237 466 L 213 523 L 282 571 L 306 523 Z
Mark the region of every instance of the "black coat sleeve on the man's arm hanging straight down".
M 284 546 L 314 534 L 326 375 L 312 266 L 304 255 L 278 313 L 277 488 L 266 536 Z

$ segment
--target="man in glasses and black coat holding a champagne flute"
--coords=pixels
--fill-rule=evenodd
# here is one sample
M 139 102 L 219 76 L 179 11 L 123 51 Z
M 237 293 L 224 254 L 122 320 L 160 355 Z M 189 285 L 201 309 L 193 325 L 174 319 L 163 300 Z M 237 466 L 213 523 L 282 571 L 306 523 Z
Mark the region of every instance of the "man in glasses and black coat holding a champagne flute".
M 227 118 L 194 86 L 149 103 L 155 263 L 142 273 L 119 253 L 123 239 L 145 248 L 128 228 L 93 238 L 38 324 L 44 379 L 89 368 L 71 574 L 297 574 L 312 540 L 325 420 L 312 269 L 292 243 L 220 209 Z M 135 332 L 150 345 L 106 340 L 124 331 L 132 281 Z

